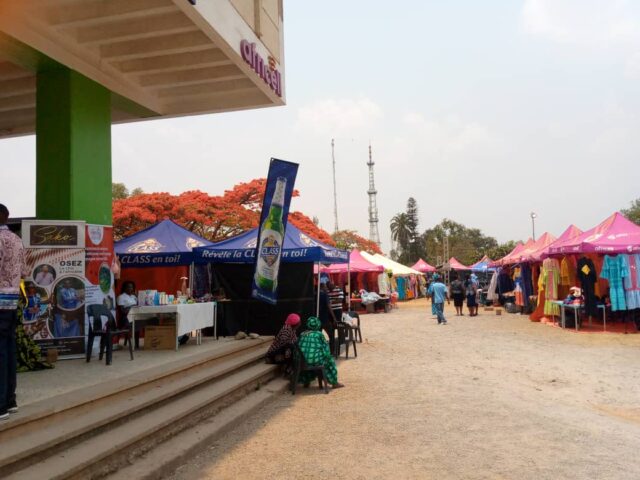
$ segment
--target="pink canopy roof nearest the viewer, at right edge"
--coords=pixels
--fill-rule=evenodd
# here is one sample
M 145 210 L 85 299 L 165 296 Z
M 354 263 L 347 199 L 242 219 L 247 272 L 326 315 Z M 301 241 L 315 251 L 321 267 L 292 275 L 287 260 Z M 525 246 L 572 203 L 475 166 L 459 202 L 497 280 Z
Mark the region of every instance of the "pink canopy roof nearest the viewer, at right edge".
M 552 245 L 548 255 L 638 252 L 640 252 L 640 227 L 616 212 L 591 230 Z

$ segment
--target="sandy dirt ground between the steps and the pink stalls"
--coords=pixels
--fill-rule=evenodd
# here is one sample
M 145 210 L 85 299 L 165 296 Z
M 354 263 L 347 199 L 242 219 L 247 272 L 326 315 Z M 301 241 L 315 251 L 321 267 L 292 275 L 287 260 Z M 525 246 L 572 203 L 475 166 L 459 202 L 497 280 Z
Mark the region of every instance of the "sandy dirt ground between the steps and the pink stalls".
M 480 313 L 363 316 L 345 388 L 279 396 L 171 478 L 640 478 L 640 335 Z

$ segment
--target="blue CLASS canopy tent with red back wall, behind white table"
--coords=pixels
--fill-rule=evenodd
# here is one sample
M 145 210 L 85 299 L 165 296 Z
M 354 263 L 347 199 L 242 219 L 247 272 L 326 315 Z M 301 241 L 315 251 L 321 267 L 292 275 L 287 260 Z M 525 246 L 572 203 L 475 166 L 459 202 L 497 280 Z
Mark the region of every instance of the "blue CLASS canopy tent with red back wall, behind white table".
M 163 220 L 114 245 L 122 266 L 122 280 L 130 280 L 139 290 L 174 293 L 180 288 L 180 278 L 193 274 L 192 249 L 211 245 L 193 232 L 171 220 Z

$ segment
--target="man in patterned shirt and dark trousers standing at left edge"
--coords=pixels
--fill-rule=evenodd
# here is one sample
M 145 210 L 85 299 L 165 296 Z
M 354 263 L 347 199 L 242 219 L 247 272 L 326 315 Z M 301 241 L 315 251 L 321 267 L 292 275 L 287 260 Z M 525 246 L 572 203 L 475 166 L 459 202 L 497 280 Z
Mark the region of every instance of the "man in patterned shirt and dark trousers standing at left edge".
M 0 204 L 0 420 L 18 411 L 16 326 L 20 279 L 27 276 L 22 240 L 7 227 L 9 210 Z

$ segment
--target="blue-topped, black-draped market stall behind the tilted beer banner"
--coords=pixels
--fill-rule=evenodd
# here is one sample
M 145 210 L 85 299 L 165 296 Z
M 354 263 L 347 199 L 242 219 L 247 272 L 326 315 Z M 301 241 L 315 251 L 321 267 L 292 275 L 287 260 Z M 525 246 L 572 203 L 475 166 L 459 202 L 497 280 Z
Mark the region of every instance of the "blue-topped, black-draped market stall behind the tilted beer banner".
M 206 247 L 194 249 L 196 277 L 194 288 L 210 293 L 218 301 L 218 334 L 233 335 L 239 330 L 274 335 L 291 312 L 303 318 L 318 310 L 318 292 L 314 291 L 314 265 L 346 263 L 349 253 L 325 245 L 304 234 L 292 224 L 284 236 L 278 302 L 269 305 L 251 296 L 258 229 Z

